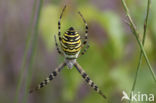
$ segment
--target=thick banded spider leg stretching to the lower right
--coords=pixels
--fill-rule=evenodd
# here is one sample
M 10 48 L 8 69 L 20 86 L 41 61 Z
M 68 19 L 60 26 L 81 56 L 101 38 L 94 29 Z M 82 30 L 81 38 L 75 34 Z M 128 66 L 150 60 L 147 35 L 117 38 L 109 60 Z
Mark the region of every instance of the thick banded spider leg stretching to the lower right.
M 98 88 L 98 86 L 89 78 L 89 76 L 86 74 L 86 72 L 82 69 L 82 67 L 75 62 L 74 66 L 76 67 L 76 69 L 80 72 L 81 76 L 85 79 L 85 81 L 87 82 L 87 84 L 92 87 L 97 93 L 99 93 L 103 98 L 107 98 L 102 91 Z

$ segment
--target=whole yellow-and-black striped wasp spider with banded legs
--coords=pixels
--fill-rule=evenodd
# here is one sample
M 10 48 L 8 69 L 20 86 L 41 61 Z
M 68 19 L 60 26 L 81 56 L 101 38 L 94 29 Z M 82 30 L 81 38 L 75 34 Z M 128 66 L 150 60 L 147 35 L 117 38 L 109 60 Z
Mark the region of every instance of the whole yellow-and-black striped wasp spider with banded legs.
M 58 21 L 58 37 L 59 37 L 59 42 L 61 45 L 61 49 L 58 46 L 58 43 L 56 41 L 56 36 L 55 38 L 55 43 L 57 47 L 57 51 L 59 54 L 63 55 L 65 57 L 65 60 L 62 64 L 60 64 L 50 75 L 47 77 L 44 81 L 42 81 L 35 89 L 32 89 L 30 93 L 32 93 L 35 90 L 41 89 L 45 85 L 47 85 L 51 80 L 53 80 L 59 72 L 67 66 L 69 69 L 72 69 L 73 66 L 79 71 L 81 76 L 85 79 L 87 84 L 92 87 L 97 93 L 99 93 L 101 96 L 103 96 L 106 99 L 106 96 L 102 93 L 102 91 L 98 88 L 98 86 L 89 78 L 89 76 L 86 74 L 86 72 L 82 69 L 82 67 L 76 62 L 76 59 L 83 55 L 89 45 L 87 42 L 88 38 L 88 25 L 86 23 L 86 20 L 83 18 L 82 14 L 78 12 L 78 14 L 81 16 L 83 22 L 85 23 L 85 37 L 83 38 L 83 42 L 81 41 L 81 37 L 78 32 L 74 30 L 73 27 L 70 27 L 61 37 L 61 18 L 63 15 L 63 12 L 66 8 L 66 5 L 64 6 L 62 13 L 60 15 L 59 21 Z M 83 48 L 84 50 L 80 52 L 80 50 Z

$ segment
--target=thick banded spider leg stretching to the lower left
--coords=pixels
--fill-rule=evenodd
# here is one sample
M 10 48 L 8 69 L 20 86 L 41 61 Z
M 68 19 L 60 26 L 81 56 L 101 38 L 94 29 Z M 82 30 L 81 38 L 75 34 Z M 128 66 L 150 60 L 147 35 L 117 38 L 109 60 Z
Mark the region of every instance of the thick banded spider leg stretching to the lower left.
M 41 88 L 43 88 L 44 86 L 46 86 L 50 81 L 52 81 L 57 75 L 58 73 L 63 69 L 63 67 L 66 66 L 66 63 L 62 63 L 58 66 L 58 68 L 56 68 L 50 75 L 49 77 L 47 77 L 44 81 L 42 81 L 36 88 L 32 89 L 29 91 L 29 93 L 32 93 L 34 91 L 37 91 Z

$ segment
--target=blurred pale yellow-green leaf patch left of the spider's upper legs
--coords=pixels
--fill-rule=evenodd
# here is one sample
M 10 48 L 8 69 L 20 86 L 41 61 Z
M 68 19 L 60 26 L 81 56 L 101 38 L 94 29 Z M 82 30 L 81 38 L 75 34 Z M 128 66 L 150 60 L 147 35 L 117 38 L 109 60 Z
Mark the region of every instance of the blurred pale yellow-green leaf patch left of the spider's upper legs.
M 51 51 L 54 48 L 54 34 L 57 34 L 57 10 L 58 7 L 48 5 L 43 7 L 41 20 L 40 20 L 40 30 L 41 36 L 47 46 L 47 49 Z

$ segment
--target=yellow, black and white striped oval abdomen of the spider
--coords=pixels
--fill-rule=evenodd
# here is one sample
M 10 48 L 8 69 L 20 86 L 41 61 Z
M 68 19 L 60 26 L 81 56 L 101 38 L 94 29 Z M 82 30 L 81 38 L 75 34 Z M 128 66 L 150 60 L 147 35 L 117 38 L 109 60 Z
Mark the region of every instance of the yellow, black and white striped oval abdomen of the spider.
M 76 55 L 81 49 L 80 35 L 71 27 L 64 33 L 61 41 L 62 50 L 66 55 Z

